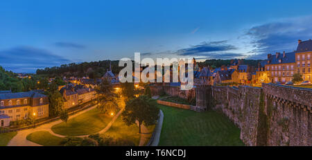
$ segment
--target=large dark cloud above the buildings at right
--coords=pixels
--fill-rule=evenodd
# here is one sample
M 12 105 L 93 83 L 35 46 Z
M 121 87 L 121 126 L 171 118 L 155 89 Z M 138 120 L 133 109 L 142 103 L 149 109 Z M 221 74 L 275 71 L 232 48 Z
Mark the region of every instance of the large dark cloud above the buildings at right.
M 244 36 L 251 39 L 253 49 L 249 58 L 264 59 L 268 53 L 294 51 L 298 39 L 311 39 L 312 16 L 281 19 L 253 26 Z

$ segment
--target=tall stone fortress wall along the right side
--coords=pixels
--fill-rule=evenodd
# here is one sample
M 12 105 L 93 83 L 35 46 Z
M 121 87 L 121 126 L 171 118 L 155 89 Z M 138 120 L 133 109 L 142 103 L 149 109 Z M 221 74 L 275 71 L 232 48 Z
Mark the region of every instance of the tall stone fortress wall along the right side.
M 197 107 L 222 111 L 241 129 L 246 145 L 311 146 L 312 89 L 262 86 L 197 87 Z

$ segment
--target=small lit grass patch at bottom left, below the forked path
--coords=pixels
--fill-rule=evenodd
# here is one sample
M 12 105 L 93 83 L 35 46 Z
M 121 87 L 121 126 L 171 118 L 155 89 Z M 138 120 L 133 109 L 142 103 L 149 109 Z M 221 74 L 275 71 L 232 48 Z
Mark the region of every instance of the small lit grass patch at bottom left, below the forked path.
M 47 131 L 33 132 L 28 134 L 26 139 L 44 146 L 62 146 L 62 142 L 66 140 L 65 138 L 54 136 Z

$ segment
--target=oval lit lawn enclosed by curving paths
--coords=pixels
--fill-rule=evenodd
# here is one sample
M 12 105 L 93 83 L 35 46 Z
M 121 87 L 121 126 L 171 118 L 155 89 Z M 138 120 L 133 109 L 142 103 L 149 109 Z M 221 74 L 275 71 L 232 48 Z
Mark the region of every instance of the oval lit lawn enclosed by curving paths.
M 112 117 L 99 112 L 98 109 L 95 108 L 69 119 L 67 124 L 62 122 L 57 125 L 53 125 L 51 130 L 53 130 L 56 134 L 65 136 L 94 134 L 103 130 L 111 120 Z

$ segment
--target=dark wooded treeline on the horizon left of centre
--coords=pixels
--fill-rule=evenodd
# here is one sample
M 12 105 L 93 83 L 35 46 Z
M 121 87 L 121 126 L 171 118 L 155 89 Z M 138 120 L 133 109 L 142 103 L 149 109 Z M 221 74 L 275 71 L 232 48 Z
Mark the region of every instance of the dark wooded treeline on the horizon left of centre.
M 107 69 L 110 68 L 110 62 L 112 64 L 112 73 L 119 73 L 123 67 L 119 67 L 119 61 L 103 60 L 98 62 L 83 62 L 83 63 L 71 63 L 62 64 L 61 66 L 46 67 L 45 69 L 37 69 L 37 75 L 46 75 L 46 77 L 53 78 L 55 76 L 60 77 L 78 77 L 83 78 L 89 76 L 89 78 L 102 77 Z

